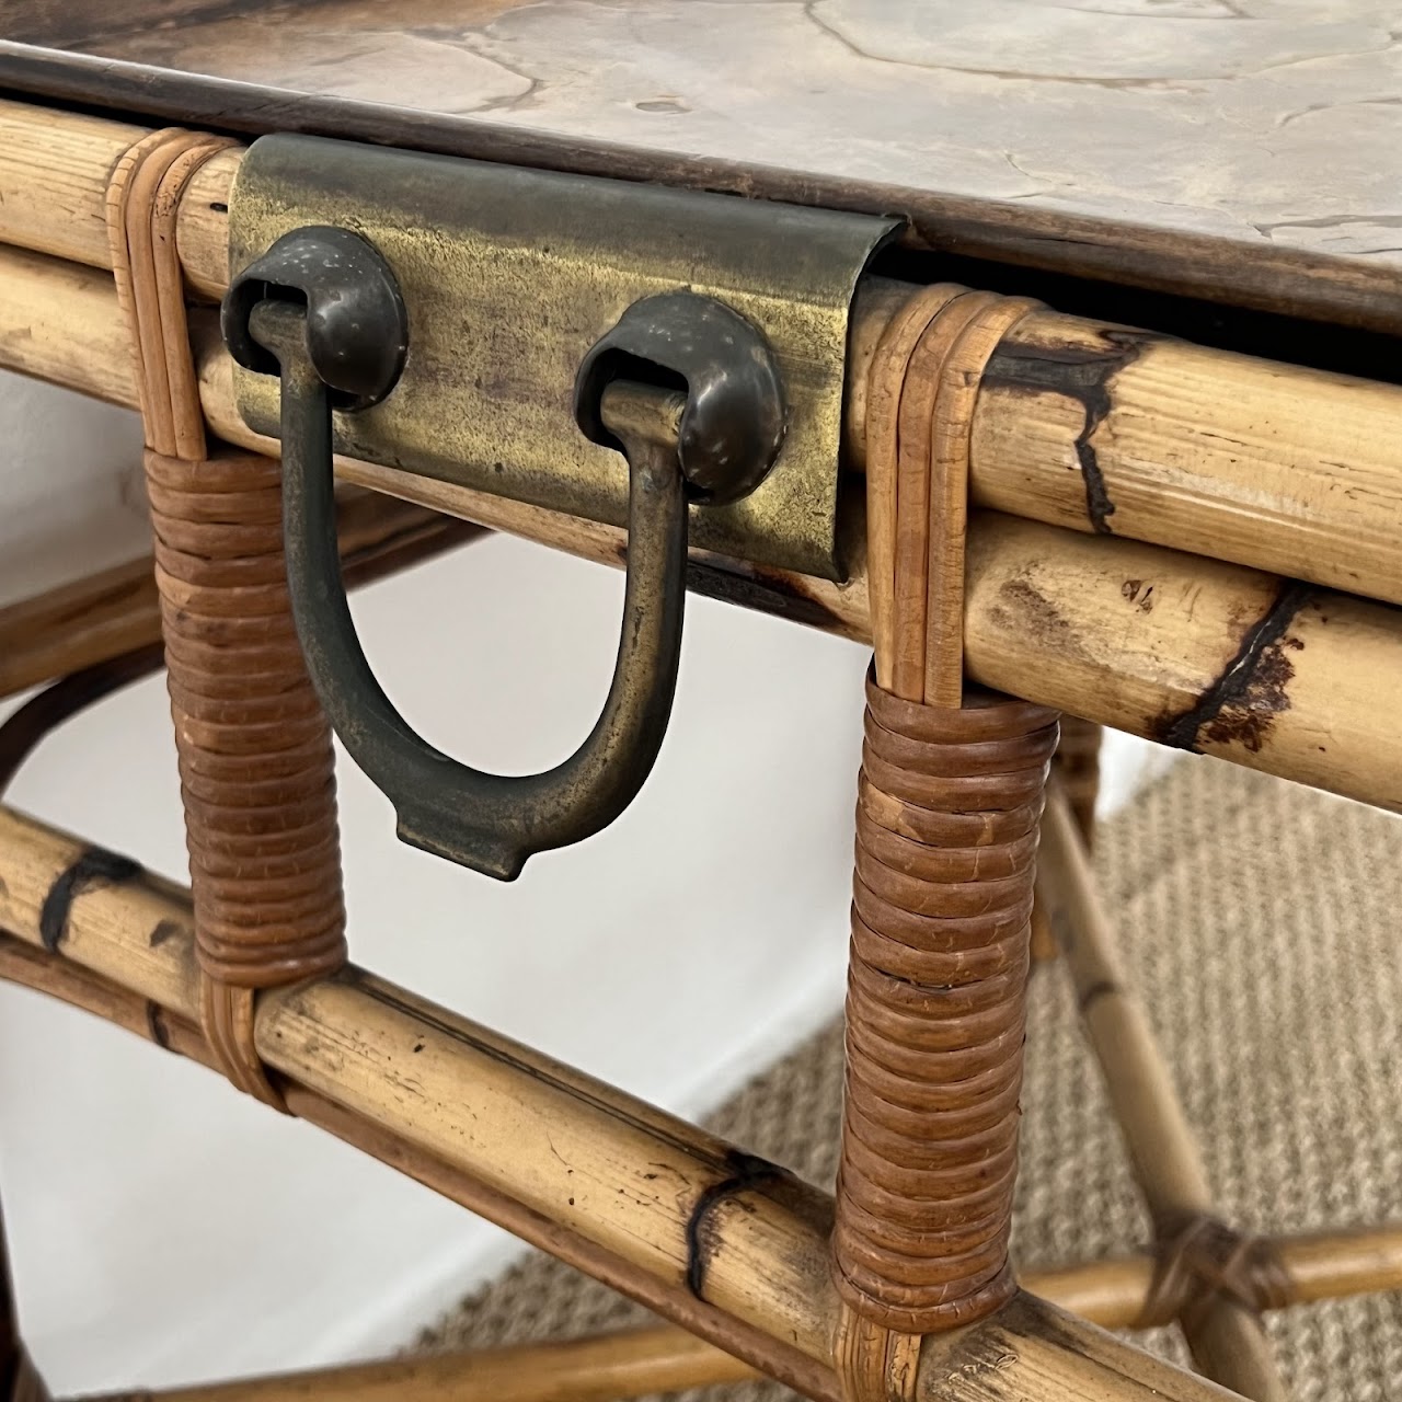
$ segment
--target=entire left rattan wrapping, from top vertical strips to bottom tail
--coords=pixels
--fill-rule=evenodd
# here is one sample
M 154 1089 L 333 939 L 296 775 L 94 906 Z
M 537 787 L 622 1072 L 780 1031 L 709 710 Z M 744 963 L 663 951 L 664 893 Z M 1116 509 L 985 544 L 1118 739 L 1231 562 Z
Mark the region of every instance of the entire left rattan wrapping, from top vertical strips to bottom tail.
M 280 464 L 206 444 L 174 224 L 227 143 L 154 132 L 118 163 L 108 234 L 132 325 L 202 1026 L 229 1078 L 282 1106 L 254 1044 L 261 988 L 346 958 L 331 729 L 287 596 Z

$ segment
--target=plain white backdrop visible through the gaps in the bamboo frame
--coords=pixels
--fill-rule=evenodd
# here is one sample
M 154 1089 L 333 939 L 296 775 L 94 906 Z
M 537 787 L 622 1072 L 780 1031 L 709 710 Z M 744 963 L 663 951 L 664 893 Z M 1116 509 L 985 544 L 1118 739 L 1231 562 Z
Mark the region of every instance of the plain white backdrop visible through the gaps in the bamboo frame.
M 42 485 L 0 516 L 0 599 L 52 582 L 41 531 L 45 551 L 60 526 L 86 533 L 88 562 L 94 530 L 100 562 L 133 554 L 130 526 L 93 526 L 112 520 L 111 482 L 136 461 L 130 422 L 57 391 L 0 395 L 0 436 L 20 442 L 7 478 Z M 74 464 L 93 454 L 114 472 L 86 494 Z M 359 594 L 355 613 L 423 733 L 524 771 L 592 723 L 620 600 L 611 571 L 492 538 Z M 342 761 L 353 958 L 705 1110 L 840 1005 L 865 663 L 850 644 L 693 599 L 672 730 L 641 798 L 512 886 L 395 843 L 388 805 Z M 1112 751 L 1110 795 L 1137 775 L 1136 746 Z M 184 876 L 164 681 L 72 722 L 8 801 Z M 374 1353 L 513 1249 L 209 1073 L 4 987 L 0 1186 L 21 1323 L 60 1394 Z

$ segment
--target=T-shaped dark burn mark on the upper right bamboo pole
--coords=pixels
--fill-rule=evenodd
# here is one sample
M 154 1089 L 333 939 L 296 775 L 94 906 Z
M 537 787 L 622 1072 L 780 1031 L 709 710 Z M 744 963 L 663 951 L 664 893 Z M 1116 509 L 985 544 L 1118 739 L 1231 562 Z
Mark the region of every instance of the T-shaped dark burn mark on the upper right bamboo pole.
M 1110 517 L 1115 502 L 1091 439 L 1113 408 L 1110 387 L 1147 345 L 1164 336 L 1123 327 L 1102 327 L 1096 332 L 1102 348 L 1088 345 L 1001 345 L 993 353 L 983 383 L 1015 393 L 1066 395 L 1081 405 L 1084 419 L 1075 436 L 1075 458 L 1085 482 L 1085 515 L 1099 536 L 1113 536 Z

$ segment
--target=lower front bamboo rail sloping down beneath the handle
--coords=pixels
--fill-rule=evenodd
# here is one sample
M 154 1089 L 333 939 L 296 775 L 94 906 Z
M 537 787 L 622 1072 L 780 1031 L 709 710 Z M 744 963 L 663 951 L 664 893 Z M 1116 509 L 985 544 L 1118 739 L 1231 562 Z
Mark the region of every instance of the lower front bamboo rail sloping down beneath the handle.
M 147 1000 L 149 1021 L 168 1012 L 193 1022 L 188 892 L 8 809 L 0 854 L 0 928 Z M 819 1366 L 810 1395 L 836 1396 L 826 1195 L 355 969 L 264 994 L 255 1033 L 268 1066 L 332 1119 L 339 1108 L 372 1138 L 386 1136 L 421 1164 L 475 1179 L 603 1249 L 622 1276 L 660 1283 L 667 1314 L 688 1295 L 709 1307 L 684 1321 L 695 1332 L 715 1330 L 719 1311 L 747 1338 L 767 1335 L 781 1373 L 801 1354 Z M 289 1105 L 301 1112 L 297 1095 Z M 1026 1294 L 925 1340 L 918 1395 L 948 1396 L 956 1378 L 967 1398 L 987 1402 L 1227 1396 Z

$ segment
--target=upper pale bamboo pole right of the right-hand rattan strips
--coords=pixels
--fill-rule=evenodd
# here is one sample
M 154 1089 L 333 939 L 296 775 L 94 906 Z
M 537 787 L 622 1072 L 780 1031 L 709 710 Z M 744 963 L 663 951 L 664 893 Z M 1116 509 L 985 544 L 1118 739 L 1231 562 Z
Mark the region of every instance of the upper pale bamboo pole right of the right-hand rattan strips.
M 1402 387 L 1044 311 L 984 377 L 979 506 L 1402 603 Z

